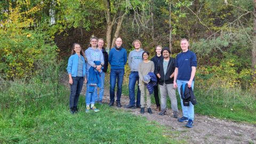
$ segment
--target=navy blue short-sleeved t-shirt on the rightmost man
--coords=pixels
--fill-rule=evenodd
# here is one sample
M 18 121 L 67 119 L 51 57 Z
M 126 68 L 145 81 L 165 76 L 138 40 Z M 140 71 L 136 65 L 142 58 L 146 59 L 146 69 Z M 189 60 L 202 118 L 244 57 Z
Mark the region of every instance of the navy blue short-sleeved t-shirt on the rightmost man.
M 187 52 L 179 53 L 175 60 L 175 67 L 179 68 L 177 79 L 180 81 L 189 81 L 192 71 L 191 67 L 196 66 L 197 61 L 194 52 L 188 50 Z

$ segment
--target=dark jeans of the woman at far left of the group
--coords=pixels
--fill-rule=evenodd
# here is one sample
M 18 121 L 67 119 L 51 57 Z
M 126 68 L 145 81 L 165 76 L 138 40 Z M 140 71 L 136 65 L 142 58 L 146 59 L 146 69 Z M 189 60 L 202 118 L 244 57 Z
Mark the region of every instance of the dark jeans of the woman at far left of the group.
M 84 77 L 72 77 L 73 84 L 70 85 L 70 95 L 69 95 L 69 107 L 77 107 L 77 102 L 79 99 L 79 94 L 81 93 Z

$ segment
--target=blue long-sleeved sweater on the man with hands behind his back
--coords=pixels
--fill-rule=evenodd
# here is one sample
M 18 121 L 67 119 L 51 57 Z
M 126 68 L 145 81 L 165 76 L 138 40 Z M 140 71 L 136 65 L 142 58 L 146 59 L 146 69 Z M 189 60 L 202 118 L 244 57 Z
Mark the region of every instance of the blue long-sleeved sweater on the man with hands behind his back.
M 119 51 L 113 47 L 109 51 L 108 62 L 111 66 L 111 69 L 124 69 L 124 65 L 127 62 L 127 52 L 124 47 L 122 47 L 122 49 Z

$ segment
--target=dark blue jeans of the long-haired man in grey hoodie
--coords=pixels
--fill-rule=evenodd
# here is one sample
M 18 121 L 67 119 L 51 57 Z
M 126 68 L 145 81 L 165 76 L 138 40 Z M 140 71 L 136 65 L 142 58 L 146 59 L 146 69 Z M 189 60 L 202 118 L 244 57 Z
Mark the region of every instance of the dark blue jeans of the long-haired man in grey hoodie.
M 131 71 L 129 76 L 129 98 L 130 105 L 135 106 L 135 84 L 138 82 L 137 101 L 136 106 L 140 106 L 140 88 L 139 88 L 139 73 L 138 71 Z

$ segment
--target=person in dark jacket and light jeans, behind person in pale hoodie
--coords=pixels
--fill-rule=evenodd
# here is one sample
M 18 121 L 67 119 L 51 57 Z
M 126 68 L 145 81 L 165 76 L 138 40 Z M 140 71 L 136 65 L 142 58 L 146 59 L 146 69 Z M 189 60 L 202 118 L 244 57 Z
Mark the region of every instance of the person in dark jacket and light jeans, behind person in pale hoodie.
M 105 81 L 105 73 L 107 73 L 108 70 L 108 53 L 105 50 L 105 48 L 103 47 L 104 45 L 104 39 L 103 38 L 99 38 L 98 39 L 98 49 L 100 51 L 102 51 L 103 54 L 103 59 L 104 59 L 104 65 L 103 65 L 103 69 L 102 69 L 102 73 L 101 73 L 101 86 L 99 87 L 99 95 L 97 95 L 97 100 L 95 102 L 98 102 L 100 104 L 102 104 L 102 99 L 103 99 L 103 95 L 104 95 L 104 81 Z M 96 92 L 98 94 L 98 92 Z

